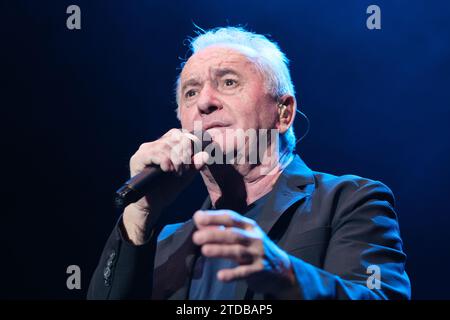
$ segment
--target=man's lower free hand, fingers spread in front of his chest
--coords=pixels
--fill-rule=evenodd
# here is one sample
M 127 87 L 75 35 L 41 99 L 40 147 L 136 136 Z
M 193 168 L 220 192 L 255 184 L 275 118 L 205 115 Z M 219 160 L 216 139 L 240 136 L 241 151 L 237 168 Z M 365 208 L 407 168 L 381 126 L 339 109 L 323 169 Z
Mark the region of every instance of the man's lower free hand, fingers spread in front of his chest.
M 295 287 L 289 255 L 279 248 L 252 219 L 231 210 L 203 210 L 194 214 L 198 230 L 193 242 L 204 256 L 225 258 L 238 266 L 217 273 L 221 281 L 245 279 L 257 292 L 279 294 Z M 286 289 L 286 290 L 284 290 Z

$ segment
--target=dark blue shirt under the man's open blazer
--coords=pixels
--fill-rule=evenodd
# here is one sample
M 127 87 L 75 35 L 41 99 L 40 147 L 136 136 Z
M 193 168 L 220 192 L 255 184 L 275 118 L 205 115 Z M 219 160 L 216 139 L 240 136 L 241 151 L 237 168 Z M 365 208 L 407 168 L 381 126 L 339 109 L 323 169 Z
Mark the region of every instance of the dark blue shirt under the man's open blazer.
M 240 214 L 258 222 L 258 217 L 268 198 L 268 195 L 256 200 Z M 211 208 L 213 209 L 213 208 Z M 193 277 L 189 290 L 190 300 L 235 300 L 236 291 L 244 280 L 222 282 L 217 279 L 217 272 L 222 269 L 230 269 L 237 266 L 237 263 L 230 259 L 208 258 L 199 255 L 193 270 Z

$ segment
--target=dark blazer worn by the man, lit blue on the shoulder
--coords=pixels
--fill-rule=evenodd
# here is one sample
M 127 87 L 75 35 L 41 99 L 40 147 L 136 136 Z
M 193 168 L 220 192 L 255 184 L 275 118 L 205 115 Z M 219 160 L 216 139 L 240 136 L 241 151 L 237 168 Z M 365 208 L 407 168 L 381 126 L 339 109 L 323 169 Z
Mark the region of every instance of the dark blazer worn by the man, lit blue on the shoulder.
M 209 206 L 207 199 L 203 207 Z M 258 224 L 293 262 L 298 288 L 289 298 L 410 298 L 394 197 L 381 182 L 311 171 L 296 156 Z M 168 225 L 141 246 L 124 240 L 120 225 L 106 243 L 88 299 L 187 299 L 200 254 L 192 242 L 193 221 Z M 379 286 L 369 278 L 373 265 Z M 236 299 L 244 298 L 276 297 L 253 293 L 240 281 Z

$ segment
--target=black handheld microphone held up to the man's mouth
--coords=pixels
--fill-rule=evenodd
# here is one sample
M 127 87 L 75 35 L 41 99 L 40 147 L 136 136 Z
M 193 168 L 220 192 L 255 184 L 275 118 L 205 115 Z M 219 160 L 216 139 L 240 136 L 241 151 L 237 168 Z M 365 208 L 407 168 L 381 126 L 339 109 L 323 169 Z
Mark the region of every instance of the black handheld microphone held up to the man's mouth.
M 204 151 L 204 149 L 212 142 L 211 136 L 207 132 L 200 131 L 193 135 L 199 138 L 201 145 L 190 137 L 193 150 L 192 156 L 198 152 Z M 159 179 L 164 179 L 164 176 L 167 176 L 168 174 L 171 173 L 162 171 L 159 165 L 145 167 L 116 191 L 114 201 L 115 206 L 118 209 L 124 209 L 130 203 L 138 201 L 145 196 L 152 185 L 158 183 Z

